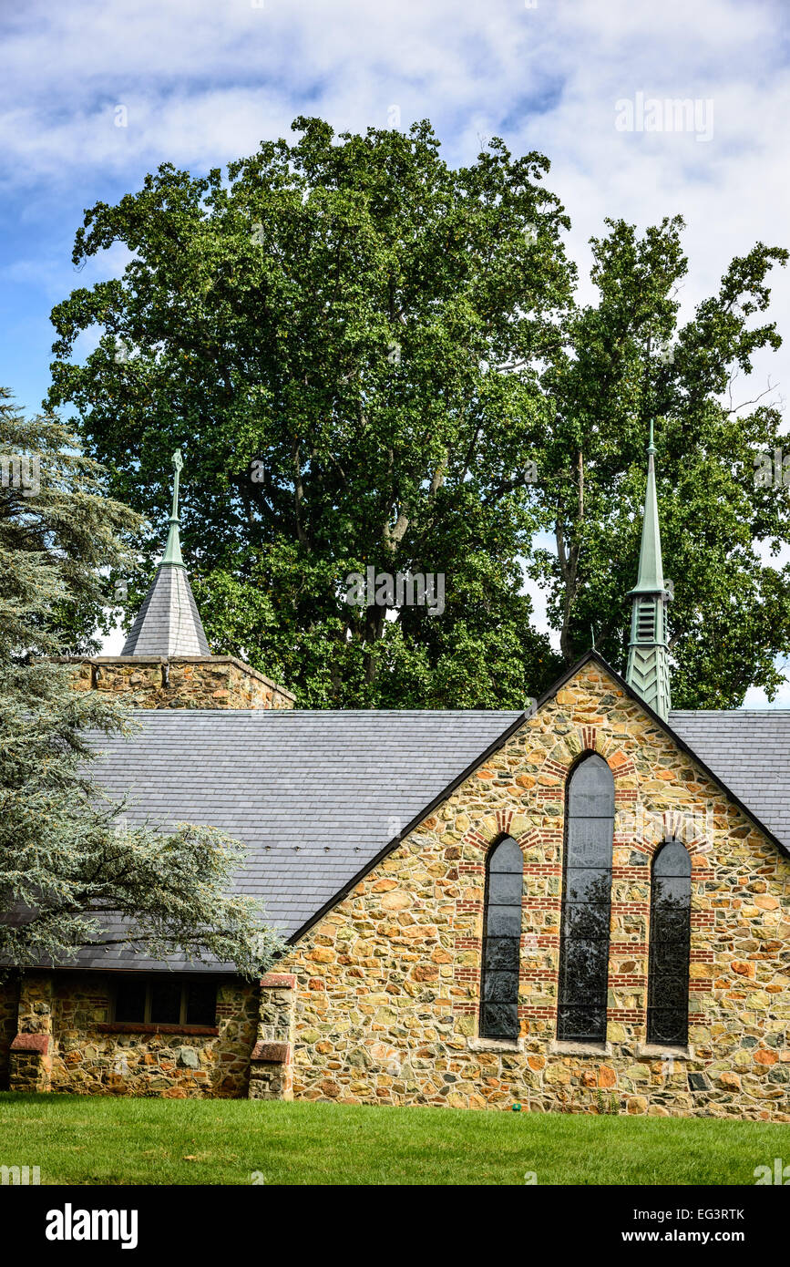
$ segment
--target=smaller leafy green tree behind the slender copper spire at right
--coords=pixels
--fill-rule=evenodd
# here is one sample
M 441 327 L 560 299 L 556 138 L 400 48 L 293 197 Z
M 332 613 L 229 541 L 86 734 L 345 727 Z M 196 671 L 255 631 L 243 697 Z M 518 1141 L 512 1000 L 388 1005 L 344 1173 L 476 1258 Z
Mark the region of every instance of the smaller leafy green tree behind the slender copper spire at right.
M 644 502 L 644 441 L 656 419 L 656 468 L 674 659 L 672 703 L 732 708 L 749 685 L 771 696 L 774 660 L 790 651 L 790 566 L 771 566 L 790 538 L 790 494 L 755 483 L 760 452 L 782 445 L 781 414 L 733 403 L 734 379 L 774 324 L 749 321 L 768 304 L 766 277 L 787 252 L 758 243 L 736 258 L 718 294 L 677 324 L 687 261 L 677 217 L 642 239 L 622 220 L 594 242 L 598 304 L 568 322 L 568 347 L 543 375 L 557 403 L 546 449 L 546 525 L 557 550 L 536 551 L 532 575 L 549 589 L 549 613 L 567 661 L 589 645 L 627 660 L 629 599 Z M 662 343 L 671 355 L 661 355 Z

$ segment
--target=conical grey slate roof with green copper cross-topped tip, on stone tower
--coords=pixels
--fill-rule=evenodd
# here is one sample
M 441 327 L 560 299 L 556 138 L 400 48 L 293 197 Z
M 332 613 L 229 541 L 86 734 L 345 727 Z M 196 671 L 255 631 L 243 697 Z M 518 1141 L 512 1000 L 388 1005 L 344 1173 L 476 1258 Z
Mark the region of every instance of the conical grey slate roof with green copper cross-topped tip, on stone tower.
M 157 568 L 122 655 L 210 655 L 192 587 L 181 559 L 179 540 L 179 473 L 181 452 L 173 454 L 176 470 L 173 506 L 165 556 Z

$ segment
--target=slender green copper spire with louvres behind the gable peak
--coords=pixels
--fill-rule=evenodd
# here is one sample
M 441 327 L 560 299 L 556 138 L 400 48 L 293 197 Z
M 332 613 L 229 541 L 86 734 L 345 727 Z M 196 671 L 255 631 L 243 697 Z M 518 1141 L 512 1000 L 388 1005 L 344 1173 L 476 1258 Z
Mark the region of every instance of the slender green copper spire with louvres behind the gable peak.
M 651 422 L 647 489 L 642 521 L 639 575 L 630 590 L 630 644 L 625 680 L 666 721 L 670 715 L 670 650 L 666 636 L 666 587 L 661 561 L 661 526 L 656 497 L 656 445 Z

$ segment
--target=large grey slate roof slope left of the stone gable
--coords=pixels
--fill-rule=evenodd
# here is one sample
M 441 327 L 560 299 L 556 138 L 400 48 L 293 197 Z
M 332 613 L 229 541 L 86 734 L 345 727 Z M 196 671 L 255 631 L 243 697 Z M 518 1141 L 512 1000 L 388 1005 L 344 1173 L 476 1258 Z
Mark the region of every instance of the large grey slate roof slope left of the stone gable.
M 243 840 L 251 860 L 239 888 L 261 897 L 290 936 L 523 716 L 138 710 L 141 731 L 97 740 L 94 773 L 109 792 L 132 792 L 130 824 L 210 824 Z M 118 946 L 86 946 L 76 962 L 201 971 Z

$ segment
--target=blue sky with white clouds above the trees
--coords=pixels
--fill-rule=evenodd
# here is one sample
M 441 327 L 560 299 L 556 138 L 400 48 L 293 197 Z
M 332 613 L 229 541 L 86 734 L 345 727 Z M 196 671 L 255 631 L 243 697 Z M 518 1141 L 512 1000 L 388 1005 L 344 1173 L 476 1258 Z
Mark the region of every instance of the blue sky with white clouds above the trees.
M 357 131 L 398 106 L 403 127 L 430 118 L 452 162 L 491 136 L 542 151 L 582 277 L 605 215 L 644 227 L 682 213 L 687 313 L 733 255 L 790 245 L 789 13 L 772 0 L 0 0 L 0 383 L 35 409 L 52 305 L 123 269 L 114 251 L 75 272 L 86 207 L 163 161 L 198 172 L 249 153 L 298 114 Z M 639 100 L 674 99 L 699 103 L 704 127 L 617 127 L 623 101 L 636 120 Z M 787 270 L 772 315 L 790 340 Z M 790 341 L 741 398 L 768 376 L 784 404 Z M 776 703 L 790 706 L 790 685 Z

